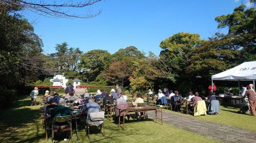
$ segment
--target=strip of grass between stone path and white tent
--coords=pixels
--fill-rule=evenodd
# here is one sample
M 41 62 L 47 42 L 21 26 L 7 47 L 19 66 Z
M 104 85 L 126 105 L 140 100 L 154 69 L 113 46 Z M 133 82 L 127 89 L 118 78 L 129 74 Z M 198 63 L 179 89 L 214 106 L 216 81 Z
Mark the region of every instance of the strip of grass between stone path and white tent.
M 164 110 L 168 112 L 172 112 L 175 114 L 182 114 L 185 116 L 189 116 L 195 119 L 202 119 L 207 121 L 212 121 L 224 125 L 230 125 L 234 127 L 240 127 L 243 129 L 248 129 L 251 131 L 256 131 L 256 117 L 251 116 L 250 114 L 238 114 L 237 111 L 239 108 L 230 107 L 230 106 L 220 106 L 220 113 L 218 115 L 206 115 L 206 116 L 192 116 L 186 115 L 183 113 L 178 113 L 169 110 Z

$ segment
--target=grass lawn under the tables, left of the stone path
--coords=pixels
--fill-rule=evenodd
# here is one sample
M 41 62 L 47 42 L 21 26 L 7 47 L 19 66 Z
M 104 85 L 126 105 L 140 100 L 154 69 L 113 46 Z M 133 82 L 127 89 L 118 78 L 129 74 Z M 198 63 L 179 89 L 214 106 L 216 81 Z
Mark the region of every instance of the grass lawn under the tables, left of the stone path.
M 19 98 L 13 103 L 12 108 L 0 112 L 0 142 L 16 143 L 45 143 L 45 133 L 42 129 L 41 113 L 39 106 L 30 107 L 30 98 Z M 95 129 L 95 128 L 94 128 Z M 201 135 L 179 129 L 171 125 L 160 125 L 154 121 L 130 120 L 125 130 L 118 127 L 114 122 L 105 120 L 106 137 L 100 142 L 217 142 Z M 93 133 L 91 138 L 102 137 Z M 84 128 L 79 128 L 80 141 L 76 141 L 73 131 L 73 142 L 88 142 Z M 51 135 L 49 134 L 49 137 Z M 50 141 L 50 138 L 48 140 Z M 62 141 L 64 142 L 64 141 Z M 66 141 L 69 142 L 69 141 Z

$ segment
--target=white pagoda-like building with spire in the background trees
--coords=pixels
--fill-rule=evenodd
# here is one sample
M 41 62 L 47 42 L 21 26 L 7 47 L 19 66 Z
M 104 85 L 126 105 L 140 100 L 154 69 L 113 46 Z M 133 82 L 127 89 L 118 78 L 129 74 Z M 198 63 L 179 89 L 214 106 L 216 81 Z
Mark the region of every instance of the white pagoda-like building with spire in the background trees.
M 62 86 L 63 88 L 66 88 L 66 83 L 68 82 L 68 79 L 65 78 L 64 74 L 62 75 L 60 73 L 60 66 L 57 74 L 54 74 L 54 77 L 50 79 L 50 82 L 53 82 L 53 86 Z

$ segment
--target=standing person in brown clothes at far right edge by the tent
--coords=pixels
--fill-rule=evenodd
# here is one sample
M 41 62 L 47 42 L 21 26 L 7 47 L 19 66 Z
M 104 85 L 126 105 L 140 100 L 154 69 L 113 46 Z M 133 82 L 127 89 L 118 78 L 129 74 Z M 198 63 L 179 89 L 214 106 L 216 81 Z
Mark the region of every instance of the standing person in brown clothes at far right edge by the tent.
M 255 116 L 256 94 L 255 94 L 254 90 L 252 90 L 251 86 L 247 86 L 246 89 L 247 89 L 247 91 L 244 94 L 244 98 L 248 97 L 250 112 L 251 112 L 252 116 Z

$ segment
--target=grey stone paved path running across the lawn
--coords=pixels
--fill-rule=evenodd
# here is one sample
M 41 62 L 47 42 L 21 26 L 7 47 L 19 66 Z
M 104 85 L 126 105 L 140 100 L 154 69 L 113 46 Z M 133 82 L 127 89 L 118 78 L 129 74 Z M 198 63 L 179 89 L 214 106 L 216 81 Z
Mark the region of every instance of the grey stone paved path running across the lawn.
M 158 117 L 160 116 L 161 114 L 158 112 Z M 155 112 L 148 112 L 148 118 L 156 119 Z M 163 112 L 163 121 L 169 125 L 174 125 L 181 129 L 224 143 L 256 143 L 256 131 L 198 120 L 170 112 Z

